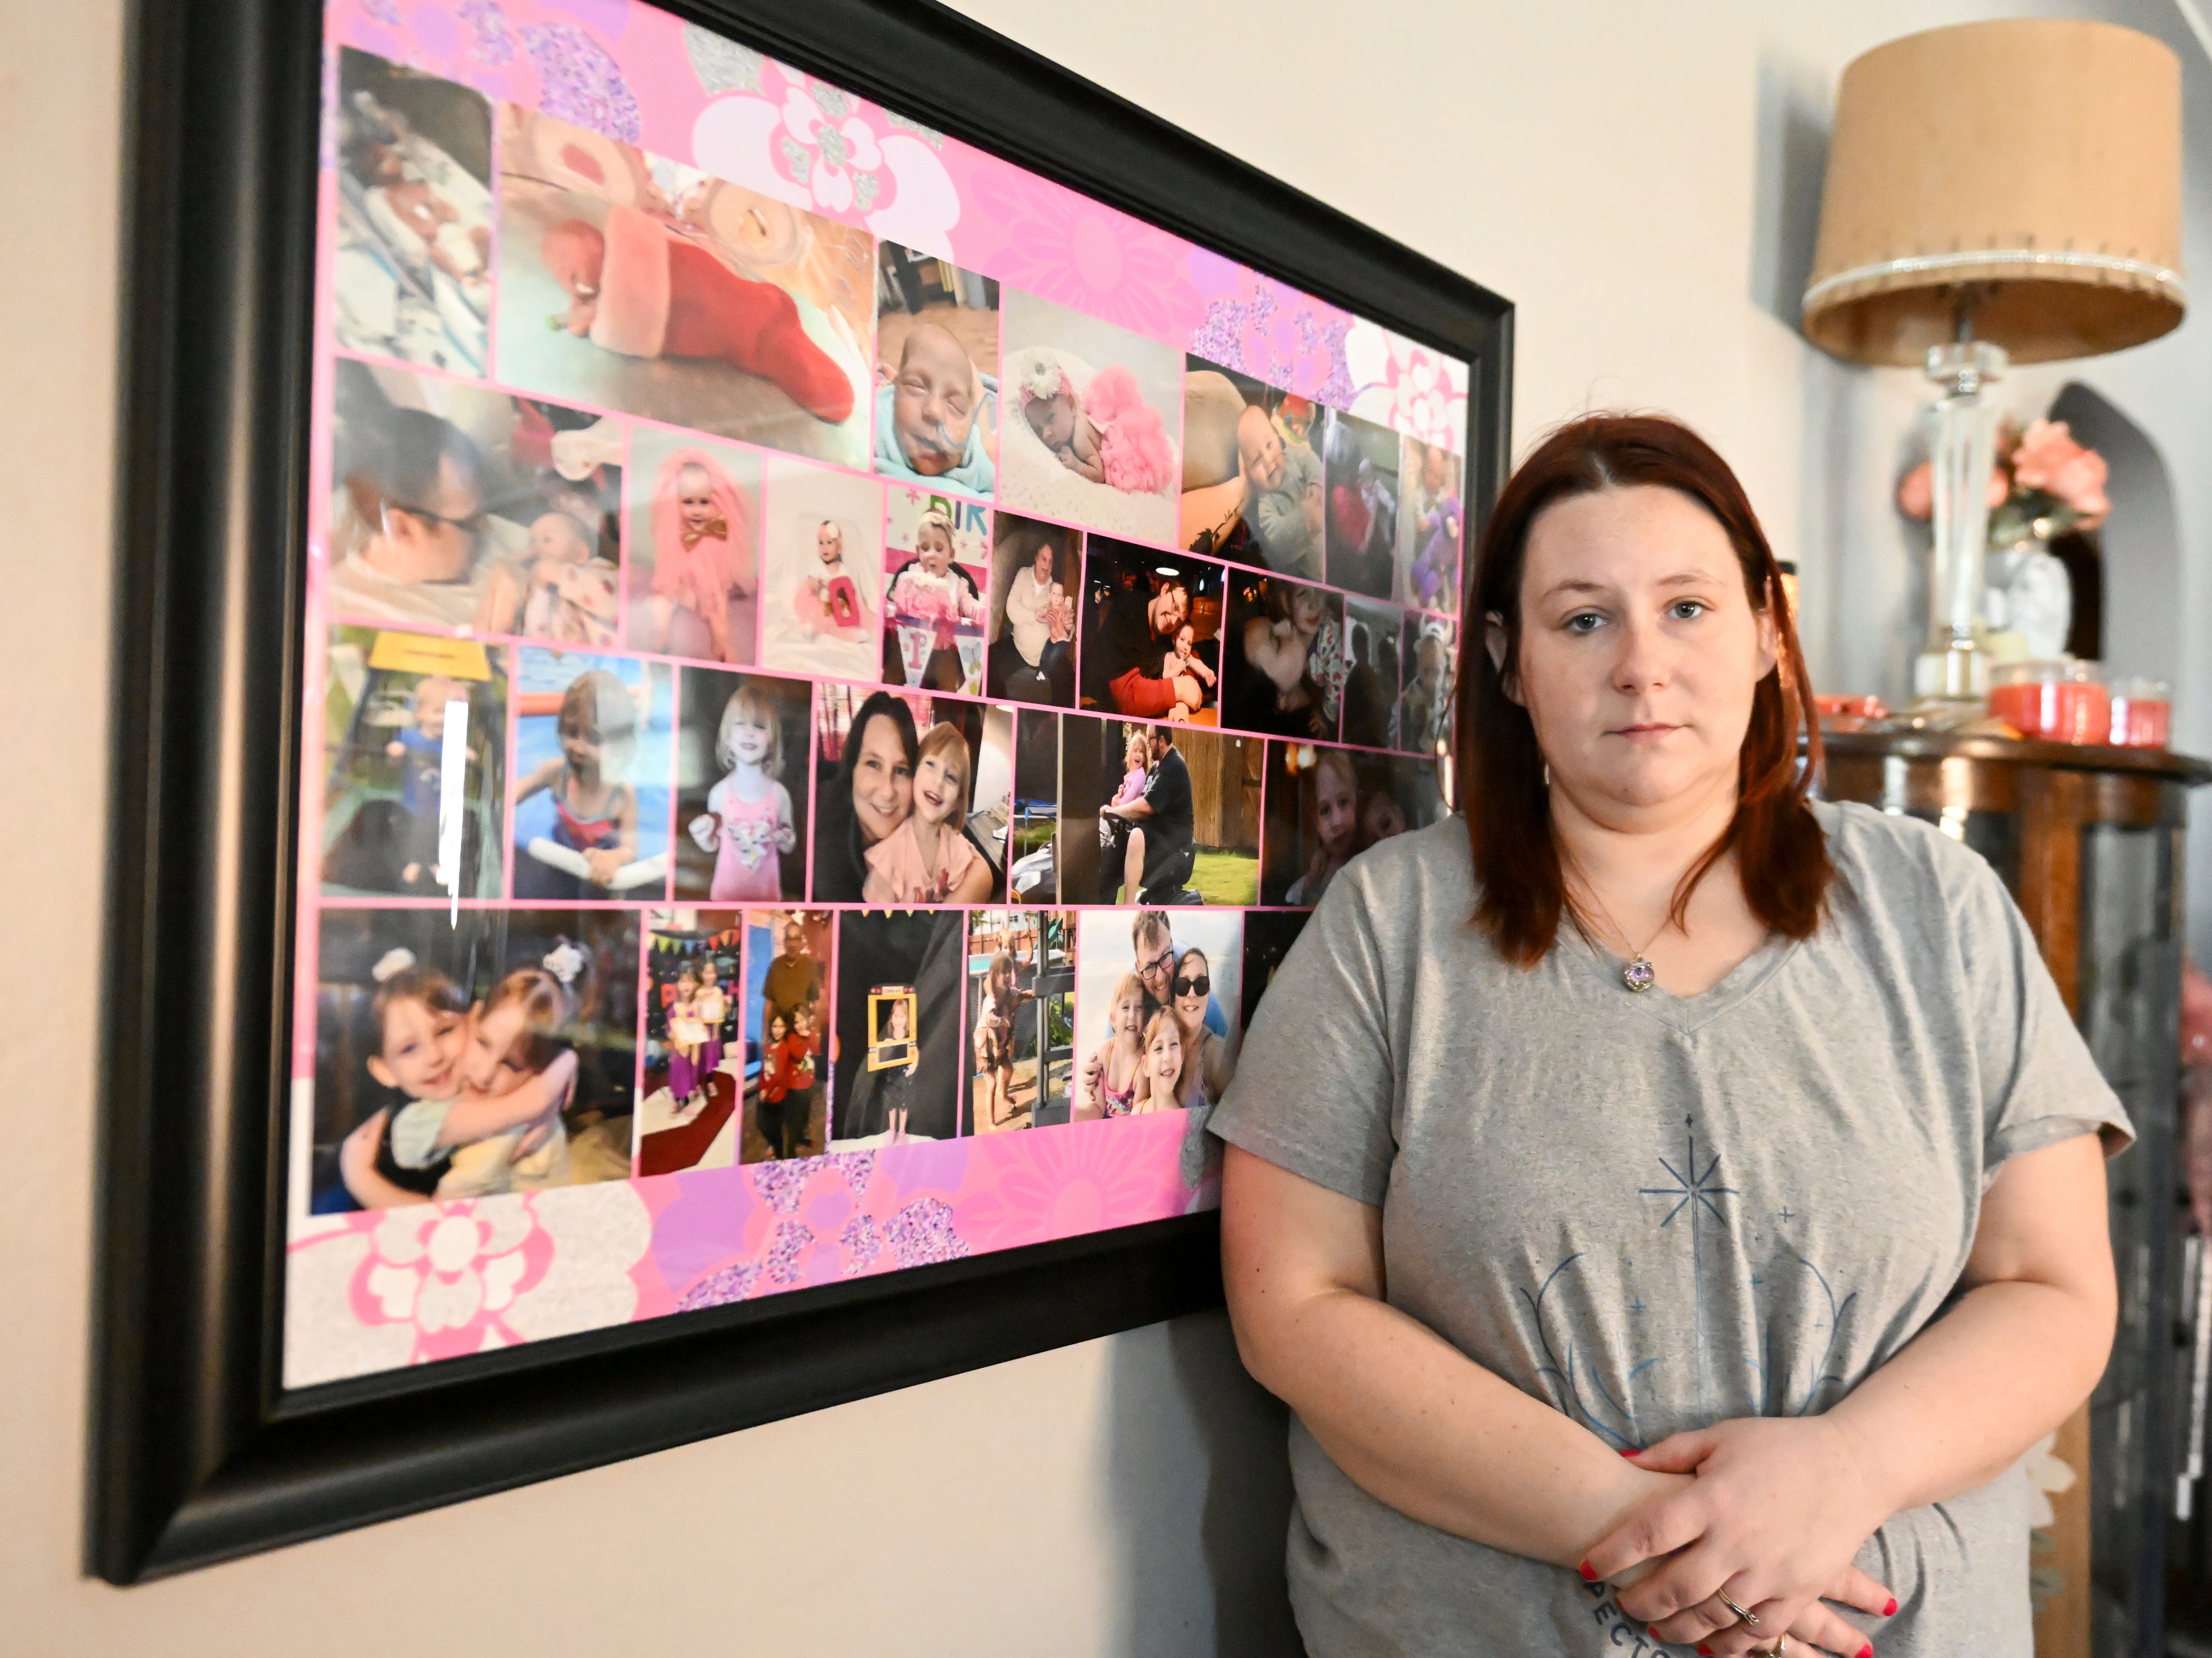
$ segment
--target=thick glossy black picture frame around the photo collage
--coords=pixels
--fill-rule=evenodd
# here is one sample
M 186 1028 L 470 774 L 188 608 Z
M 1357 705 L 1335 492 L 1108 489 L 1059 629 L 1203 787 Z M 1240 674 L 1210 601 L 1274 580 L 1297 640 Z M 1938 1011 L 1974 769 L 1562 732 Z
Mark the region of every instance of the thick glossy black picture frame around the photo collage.
M 940 4 L 666 9 L 1464 358 L 1480 526 L 1504 298 Z M 1208 1214 L 281 1388 L 323 15 L 139 0 L 133 29 L 88 1570 L 139 1583 L 1219 1304 Z

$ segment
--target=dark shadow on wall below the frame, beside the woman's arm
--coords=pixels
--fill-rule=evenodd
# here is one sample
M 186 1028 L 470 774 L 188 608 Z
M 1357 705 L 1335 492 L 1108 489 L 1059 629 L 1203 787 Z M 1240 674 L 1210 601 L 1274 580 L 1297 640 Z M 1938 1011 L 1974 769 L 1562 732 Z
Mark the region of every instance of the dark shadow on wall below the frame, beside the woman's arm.
M 1228 1313 L 1128 1331 L 1113 1355 L 1102 1450 L 1119 1547 L 1110 1581 L 1130 1594 L 1108 1651 L 1305 1651 L 1283 1583 L 1290 1413 L 1245 1375 Z

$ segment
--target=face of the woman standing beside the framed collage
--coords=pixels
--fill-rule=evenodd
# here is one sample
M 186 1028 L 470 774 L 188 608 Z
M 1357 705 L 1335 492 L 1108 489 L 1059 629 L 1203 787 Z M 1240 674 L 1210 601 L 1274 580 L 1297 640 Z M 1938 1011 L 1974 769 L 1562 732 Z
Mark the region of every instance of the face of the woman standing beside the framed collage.
M 1734 796 L 1776 634 L 1712 513 L 1648 484 L 1548 506 L 1528 528 L 1520 608 L 1509 694 L 1577 807 Z

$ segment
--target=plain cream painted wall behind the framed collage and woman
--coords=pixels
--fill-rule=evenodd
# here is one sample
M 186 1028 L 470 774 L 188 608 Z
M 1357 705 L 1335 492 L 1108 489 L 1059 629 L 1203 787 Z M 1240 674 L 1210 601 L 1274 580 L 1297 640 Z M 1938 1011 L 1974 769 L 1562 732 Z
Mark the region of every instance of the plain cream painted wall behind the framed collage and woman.
M 1887 497 L 1922 389 L 1809 351 L 1809 256 L 1838 69 L 1966 0 L 964 0 L 964 11 L 1520 303 L 1515 436 L 1661 407 L 1741 466 L 1805 570 L 1814 674 L 1896 692 L 1918 579 Z M 2075 7 L 2064 7 L 2075 11 Z M 2203 57 L 2166 0 L 2081 7 Z M 1157 42 L 1175 42 L 1161 51 Z M 1267 1654 L 1281 1623 L 1281 1415 L 1221 1320 L 1186 1320 L 117 1592 L 77 1576 L 122 2 L 0 7 L 0 1649 L 9 1654 Z M 2194 172 L 2201 188 L 2205 170 Z M 2212 217 L 2192 197 L 2192 265 Z M 2212 325 L 2081 365 L 2174 473 L 2174 595 L 2212 604 Z M 2037 407 L 2064 374 L 2026 376 Z M 2181 736 L 2212 743 L 2190 652 Z M 2197 842 L 2212 893 L 2212 833 Z M 2192 906 L 2203 920 L 2205 904 Z M 2205 928 L 2199 924 L 2199 935 Z

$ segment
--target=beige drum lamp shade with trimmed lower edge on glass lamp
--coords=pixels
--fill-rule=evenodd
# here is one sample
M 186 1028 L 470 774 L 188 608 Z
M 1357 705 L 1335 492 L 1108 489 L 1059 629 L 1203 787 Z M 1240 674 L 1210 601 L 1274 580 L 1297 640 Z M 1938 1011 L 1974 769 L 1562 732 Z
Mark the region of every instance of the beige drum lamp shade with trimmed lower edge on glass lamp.
M 1843 71 L 1805 334 L 1918 365 L 1973 332 L 2015 363 L 2181 321 L 2181 62 L 2106 22 L 1931 29 Z

